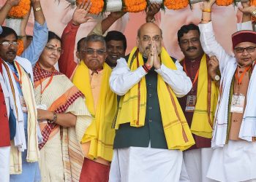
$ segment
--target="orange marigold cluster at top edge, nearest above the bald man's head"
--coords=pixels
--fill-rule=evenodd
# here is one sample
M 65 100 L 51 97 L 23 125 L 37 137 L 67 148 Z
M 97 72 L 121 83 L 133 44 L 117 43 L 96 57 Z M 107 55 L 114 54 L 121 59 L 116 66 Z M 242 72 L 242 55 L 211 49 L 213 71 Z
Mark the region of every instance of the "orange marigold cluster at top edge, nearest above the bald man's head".
M 124 12 L 142 12 L 146 9 L 146 0 L 124 0 Z

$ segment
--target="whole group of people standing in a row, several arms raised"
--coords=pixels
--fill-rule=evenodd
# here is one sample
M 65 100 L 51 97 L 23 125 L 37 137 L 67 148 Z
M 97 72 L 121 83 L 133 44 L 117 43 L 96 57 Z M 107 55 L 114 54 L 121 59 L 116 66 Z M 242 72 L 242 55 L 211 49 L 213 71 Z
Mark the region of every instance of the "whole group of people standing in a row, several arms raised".
M 78 41 L 76 61 L 91 1 L 78 4 L 59 37 L 31 0 L 34 35 L 23 20 L 18 56 L 18 35 L 2 24 L 20 0 L 7 0 L 0 181 L 256 181 L 256 7 L 241 2 L 230 55 L 214 36 L 215 1 L 203 2 L 199 25 L 179 29 L 182 60 L 163 47 L 154 23 L 161 6 L 152 3 L 131 52 L 123 33 L 108 31 L 125 12 L 111 12 Z

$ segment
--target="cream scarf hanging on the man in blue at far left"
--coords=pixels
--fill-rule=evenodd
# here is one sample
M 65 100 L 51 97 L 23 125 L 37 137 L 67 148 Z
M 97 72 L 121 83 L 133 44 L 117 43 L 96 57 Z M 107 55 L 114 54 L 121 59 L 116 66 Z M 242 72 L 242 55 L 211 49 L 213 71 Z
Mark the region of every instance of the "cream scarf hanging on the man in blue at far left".
M 18 75 L 21 78 L 22 84 L 21 90 L 23 98 L 28 109 L 28 141 L 27 141 L 27 162 L 37 162 L 39 159 L 39 149 L 37 141 L 37 107 L 34 99 L 34 88 L 29 79 L 26 71 L 15 62 L 16 68 L 18 68 Z M 18 151 L 18 147 L 12 146 L 11 157 L 10 157 L 10 173 L 20 174 L 22 173 L 21 167 L 21 152 Z

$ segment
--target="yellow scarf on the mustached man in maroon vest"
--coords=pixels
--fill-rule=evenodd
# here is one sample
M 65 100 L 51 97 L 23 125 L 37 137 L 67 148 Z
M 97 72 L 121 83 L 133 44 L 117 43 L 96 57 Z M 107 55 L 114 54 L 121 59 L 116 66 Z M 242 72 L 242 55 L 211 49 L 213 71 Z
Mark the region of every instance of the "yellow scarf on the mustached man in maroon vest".
M 193 114 L 191 132 L 195 135 L 211 138 L 212 127 L 214 124 L 214 114 L 217 107 L 219 88 L 211 79 L 208 79 L 206 54 L 200 62 L 198 84 L 197 84 L 197 103 Z

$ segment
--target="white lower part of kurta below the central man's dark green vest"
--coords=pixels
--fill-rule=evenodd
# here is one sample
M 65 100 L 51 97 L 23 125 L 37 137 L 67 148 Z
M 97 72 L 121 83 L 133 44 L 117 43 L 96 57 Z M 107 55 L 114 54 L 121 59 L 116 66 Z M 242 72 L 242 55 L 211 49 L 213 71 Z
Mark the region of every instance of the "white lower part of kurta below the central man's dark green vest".
M 129 147 L 114 149 L 110 182 L 177 182 L 182 151 Z

